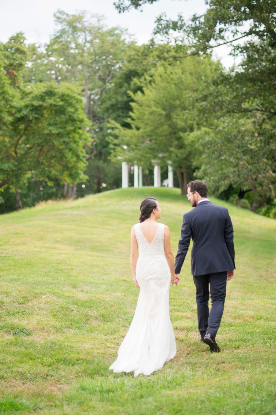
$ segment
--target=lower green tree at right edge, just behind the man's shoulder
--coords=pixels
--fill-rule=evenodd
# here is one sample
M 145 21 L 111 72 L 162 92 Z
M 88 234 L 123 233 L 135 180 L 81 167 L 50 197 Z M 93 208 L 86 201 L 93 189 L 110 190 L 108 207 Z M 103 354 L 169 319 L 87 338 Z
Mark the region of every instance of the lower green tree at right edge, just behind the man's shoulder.
M 254 212 L 276 192 L 275 121 L 224 117 L 214 131 L 202 131 L 205 152 L 197 173 L 219 192 L 230 185 L 251 191 Z

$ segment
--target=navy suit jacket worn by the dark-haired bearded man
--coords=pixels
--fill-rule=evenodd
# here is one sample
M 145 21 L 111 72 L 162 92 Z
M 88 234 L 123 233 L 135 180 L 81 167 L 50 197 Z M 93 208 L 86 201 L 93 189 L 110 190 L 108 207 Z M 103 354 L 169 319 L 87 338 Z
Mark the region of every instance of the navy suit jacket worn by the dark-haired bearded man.
M 233 225 L 226 207 L 204 200 L 185 213 L 175 257 L 176 274 L 181 271 L 191 238 L 192 275 L 235 269 Z

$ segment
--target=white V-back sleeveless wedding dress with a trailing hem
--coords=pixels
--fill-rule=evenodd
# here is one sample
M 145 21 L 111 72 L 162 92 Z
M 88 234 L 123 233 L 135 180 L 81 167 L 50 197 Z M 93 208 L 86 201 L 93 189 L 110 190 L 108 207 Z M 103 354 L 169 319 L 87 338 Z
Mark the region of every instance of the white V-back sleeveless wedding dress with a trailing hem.
M 158 223 L 151 244 L 139 223 L 134 229 L 139 247 L 136 279 L 140 293 L 130 329 L 109 369 L 115 373 L 134 371 L 138 376 L 150 375 L 173 359 L 176 344 L 169 315 L 170 269 L 164 253 L 164 224 Z

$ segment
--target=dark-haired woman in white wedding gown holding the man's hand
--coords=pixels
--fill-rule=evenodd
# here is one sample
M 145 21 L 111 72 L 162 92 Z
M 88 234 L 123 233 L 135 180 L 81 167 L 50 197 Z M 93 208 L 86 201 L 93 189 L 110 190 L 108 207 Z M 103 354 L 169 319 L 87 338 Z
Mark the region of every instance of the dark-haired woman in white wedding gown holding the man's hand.
M 109 368 L 115 373 L 134 371 L 134 376 L 150 375 L 175 356 L 169 289 L 170 283 L 178 285 L 179 281 L 174 272 L 170 230 L 156 222 L 161 213 L 159 203 L 148 197 L 140 210 L 140 223 L 131 230 L 130 252 L 133 280 L 140 293 L 130 329 Z

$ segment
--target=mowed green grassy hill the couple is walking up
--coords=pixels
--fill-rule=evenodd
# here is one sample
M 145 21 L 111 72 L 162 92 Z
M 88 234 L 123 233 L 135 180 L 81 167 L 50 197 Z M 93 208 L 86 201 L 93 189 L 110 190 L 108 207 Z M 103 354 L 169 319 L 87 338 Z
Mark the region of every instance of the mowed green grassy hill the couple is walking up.
M 151 376 L 113 374 L 137 302 L 130 230 L 160 202 L 177 251 L 179 189 L 114 190 L 0 216 L 0 414 L 276 414 L 276 220 L 221 200 L 236 273 L 211 354 L 199 342 L 190 250 L 170 288 L 175 358 Z

